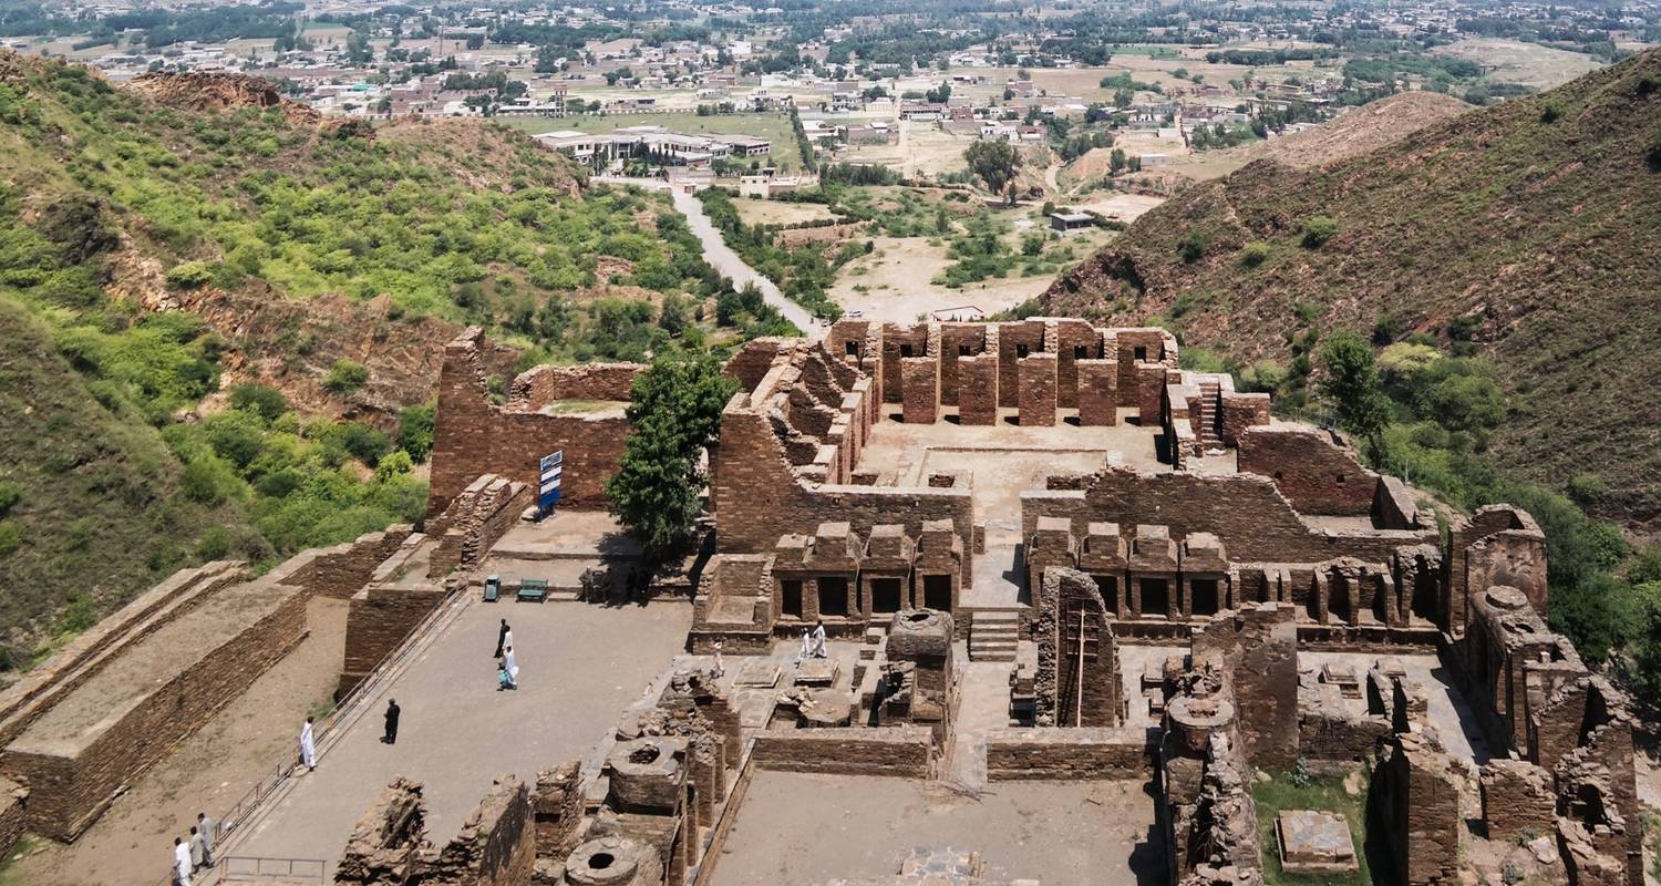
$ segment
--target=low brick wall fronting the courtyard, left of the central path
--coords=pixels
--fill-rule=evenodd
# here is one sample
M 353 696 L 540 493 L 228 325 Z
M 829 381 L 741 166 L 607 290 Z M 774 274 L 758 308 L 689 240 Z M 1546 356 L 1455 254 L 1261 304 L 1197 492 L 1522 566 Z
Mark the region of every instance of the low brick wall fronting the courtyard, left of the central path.
M 761 733 L 751 760 L 759 770 L 928 778 L 933 733 L 925 726 Z

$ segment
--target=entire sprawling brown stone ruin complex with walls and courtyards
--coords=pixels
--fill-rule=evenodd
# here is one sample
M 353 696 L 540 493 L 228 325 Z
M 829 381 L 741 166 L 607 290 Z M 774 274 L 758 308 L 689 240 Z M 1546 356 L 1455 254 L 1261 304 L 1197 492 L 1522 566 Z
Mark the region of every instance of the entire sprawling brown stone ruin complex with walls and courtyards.
M 844 321 L 747 342 L 701 545 L 646 600 L 626 597 L 639 549 L 600 507 L 643 367 L 538 367 L 497 404 L 495 352 L 477 329 L 447 349 L 419 529 L 252 582 L 181 573 L 0 696 L 20 786 L 0 836 L 73 839 L 284 655 L 301 628 L 267 613 L 327 595 L 349 615 L 322 763 L 226 821 L 231 866 L 1643 884 L 1628 701 L 1541 618 L 1535 520 L 1490 505 L 1442 532 L 1342 439 L 1181 369 L 1164 331 Z M 570 507 L 537 520 L 551 450 Z M 149 705 L 168 718 L 86 713 L 136 692 L 111 680 L 174 687 L 181 663 L 151 650 L 204 618 L 261 653 Z M 492 687 L 500 618 L 512 693 Z M 135 725 L 148 743 L 101 740 Z

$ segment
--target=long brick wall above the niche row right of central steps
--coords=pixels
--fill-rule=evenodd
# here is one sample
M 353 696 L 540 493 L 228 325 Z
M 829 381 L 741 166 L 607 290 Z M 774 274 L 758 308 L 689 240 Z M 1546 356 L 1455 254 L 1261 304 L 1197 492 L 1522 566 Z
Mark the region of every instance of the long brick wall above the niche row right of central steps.
M 1073 534 L 1091 522 L 1120 524 L 1126 535 L 1136 524 L 1158 522 L 1173 537 L 1214 534 L 1234 562 L 1319 564 L 1337 557 L 1389 562 L 1399 547 L 1435 539 L 1435 530 L 1316 532 L 1276 490 L 1256 474 L 1138 474 L 1108 467 L 1091 475 L 1083 490 L 1030 490 L 1022 494 L 1022 532 L 1031 534 L 1040 517 L 1068 517 Z

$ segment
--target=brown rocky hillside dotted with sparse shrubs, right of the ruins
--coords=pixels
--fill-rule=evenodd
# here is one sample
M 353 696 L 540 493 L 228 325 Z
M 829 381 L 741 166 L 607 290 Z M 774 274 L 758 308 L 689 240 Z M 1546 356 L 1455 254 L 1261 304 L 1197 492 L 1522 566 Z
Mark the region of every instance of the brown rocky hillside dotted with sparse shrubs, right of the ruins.
M 1337 163 L 1252 163 L 1041 301 L 1282 366 L 1314 329 L 1475 344 L 1508 394 L 1495 460 L 1590 475 L 1596 512 L 1661 530 L 1661 52 Z

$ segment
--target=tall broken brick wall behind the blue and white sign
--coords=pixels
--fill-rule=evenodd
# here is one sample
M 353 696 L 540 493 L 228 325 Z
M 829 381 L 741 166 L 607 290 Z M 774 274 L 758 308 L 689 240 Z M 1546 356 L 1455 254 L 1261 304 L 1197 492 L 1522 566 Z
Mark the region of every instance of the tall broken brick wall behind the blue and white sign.
M 603 484 L 618 470 L 623 442 L 630 434 L 628 419 L 545 416 L 495 406 L 485 384 L 482 347 L 483 332 L 478 327 L 468 329 L 445 347 L 427 514 L 442 514 L 482 474 L 500 474 L 535 487 L 538 460 L 556 449 L 565 450 L 561 502 L 603 505 Z

